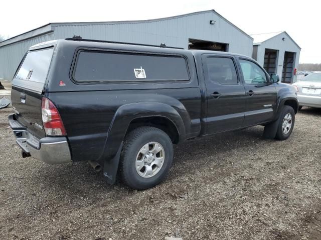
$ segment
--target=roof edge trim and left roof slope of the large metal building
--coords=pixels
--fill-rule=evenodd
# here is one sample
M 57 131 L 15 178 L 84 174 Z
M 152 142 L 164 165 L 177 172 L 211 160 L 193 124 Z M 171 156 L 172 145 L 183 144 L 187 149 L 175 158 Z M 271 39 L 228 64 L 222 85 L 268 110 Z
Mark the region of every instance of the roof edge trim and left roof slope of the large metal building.
M 190 16 L 190 15 L 196 15 L 196 14 L 202 14 L 202 13 L 207 13 L 207 12 L 213 12 L 217 14 L 219 17 L 221 17 L 223 20 L 231 24 L 233 27 L 235 27 L 237 30 L 242 32 L 244 35 L 248 36 L 250 39 L 253 39 L 252 36 L 241 30 L 239 27 L 234 25 L 232 22 L 227 20 L 225 17 L 223 17 L 221 14 L 219 14 L 217 11 L 214 9 L 211 10 L 205 10 L 205 11 L 196 11 L 196 12 L 191 12 L 191 13 L 186 13 L 182 15 L 176 15 L 176 16 L 170 16 L 170 17 L 163 17 L 163 18 L 156 18 L 156 19 L 148 19 L 148 20 L 129 20 L 129 21 L 94 21 L 94 22 L 51 22 L 46 25 L 37 27 L 35 29 L 32 29 L 30 31 L 24 32 L 22 34 L 19 34 L 17 36 L 11 37 L 7 40 L 4 40 L 0 42 L 0 47 L 8 44 L 12 44 L 14 42 L 19 42 L 28 38 L 32 38 L 38 35 L 45 34 L 50 31 L 54 31 L 55 26 L 59 25 L 87 25 L 87 24 L 126 24 L 126 23 L 148 23 L 148 22 L 157 22 L 157 21 L 164 21 L 164 20 L 170 20 L 174 18 L 180 18 L 180 17 L 185 17 L 185 16 Z

